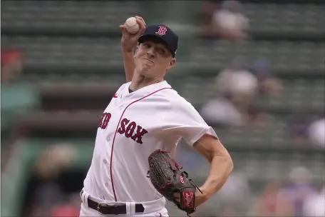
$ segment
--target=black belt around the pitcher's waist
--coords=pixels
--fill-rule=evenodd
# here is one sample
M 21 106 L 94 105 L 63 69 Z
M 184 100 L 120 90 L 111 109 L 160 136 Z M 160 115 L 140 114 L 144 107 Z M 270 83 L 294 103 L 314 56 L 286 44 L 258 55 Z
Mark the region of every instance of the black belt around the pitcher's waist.
M 88 207 L 102 213 L 103 215 L 126 214 L 126 205 L 108 205 L 107 203 L 97 203 L 88 197 Z M 135 203 L 135 213 L 143 213 L 145 208 L 141 203 Z

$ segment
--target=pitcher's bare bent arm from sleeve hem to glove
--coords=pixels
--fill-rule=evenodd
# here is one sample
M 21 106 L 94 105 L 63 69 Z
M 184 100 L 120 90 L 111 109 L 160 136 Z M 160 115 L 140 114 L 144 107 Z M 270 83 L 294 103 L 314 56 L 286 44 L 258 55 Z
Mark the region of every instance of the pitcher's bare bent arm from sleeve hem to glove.
M 210 163 L 209 176 L 200 188 L 203 194 L 197 191 L 195 198 L 195 206 L 197 207 L 222 188 L 234 165 L 227 149 L 214 136 L 205 134 L 193 144 L 193 148 Z

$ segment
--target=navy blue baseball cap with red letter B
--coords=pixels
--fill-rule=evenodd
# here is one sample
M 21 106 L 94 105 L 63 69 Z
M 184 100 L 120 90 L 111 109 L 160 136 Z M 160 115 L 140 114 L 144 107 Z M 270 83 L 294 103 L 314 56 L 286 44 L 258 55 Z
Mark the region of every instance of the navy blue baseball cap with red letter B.
M 145 28 L 145 32 L 138 39 L 139 43 L 147 39 L 158 39 L 172 52 L 172 57 L 175 57 L 177 46 L 178 46 L 178 36 L 172 29 L 165 25 L 150 25 Z

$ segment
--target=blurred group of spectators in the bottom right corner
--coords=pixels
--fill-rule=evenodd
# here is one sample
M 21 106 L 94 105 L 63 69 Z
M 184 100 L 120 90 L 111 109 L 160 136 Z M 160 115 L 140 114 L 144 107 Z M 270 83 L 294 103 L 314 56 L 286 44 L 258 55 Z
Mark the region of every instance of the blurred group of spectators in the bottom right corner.
M 254 216 L 324 216 L 325 183 L 315 186 L 311 172 L 294 168 L 289 183 L 269 182 L 252 208 Z

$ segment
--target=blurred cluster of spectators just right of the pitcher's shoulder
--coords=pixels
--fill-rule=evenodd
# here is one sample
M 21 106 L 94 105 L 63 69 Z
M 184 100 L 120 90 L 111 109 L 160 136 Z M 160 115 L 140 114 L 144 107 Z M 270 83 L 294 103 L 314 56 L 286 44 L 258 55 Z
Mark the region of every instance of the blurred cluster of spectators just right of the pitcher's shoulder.
M 234 59 L 231 66 L 215 78 L 216 98 L 200 113 L 212 126 L 248 126 L 267 121 L 255 104 L 260 96 L 278 94 L 282 86 L 269 71 L 267 61 L 259 60 L 249 69 L 244 59 Z

